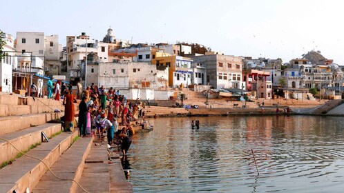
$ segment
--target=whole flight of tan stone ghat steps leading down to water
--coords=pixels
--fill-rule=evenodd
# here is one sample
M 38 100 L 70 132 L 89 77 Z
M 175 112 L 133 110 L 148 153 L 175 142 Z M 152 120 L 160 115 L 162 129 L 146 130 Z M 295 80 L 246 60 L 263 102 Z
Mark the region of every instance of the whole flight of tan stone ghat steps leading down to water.
M 55 109 L 64 110 L 61 101 L 0 94 L 0 192 L 132 192 L 118 157 L 109 164 L 104 141 L 48 123 L 64 114 Z

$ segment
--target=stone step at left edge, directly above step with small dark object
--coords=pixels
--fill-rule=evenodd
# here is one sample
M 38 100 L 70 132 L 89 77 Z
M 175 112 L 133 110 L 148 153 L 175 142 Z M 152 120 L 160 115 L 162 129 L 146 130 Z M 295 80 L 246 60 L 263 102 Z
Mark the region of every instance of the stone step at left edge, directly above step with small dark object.
M 43 125 L 48 121 L 59 119 L 63 113 L 48 112 L 0 117 L 0 135 L 16 132 L 34 125 Z

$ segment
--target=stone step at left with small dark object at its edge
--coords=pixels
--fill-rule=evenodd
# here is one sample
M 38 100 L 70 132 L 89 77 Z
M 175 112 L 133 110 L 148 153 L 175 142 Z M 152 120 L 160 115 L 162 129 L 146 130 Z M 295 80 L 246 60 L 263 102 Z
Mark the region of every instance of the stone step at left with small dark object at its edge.
M 10 141 L 20 151 L 26 151 L 31 145 L 41 143 L 41 132 L 44 132 L 46 136 L 51 137 L 53 134 L 61 131 L 61 124 L 59 123 L 45 123 L 35 127 L 26 128 L 24 130 L 11 132 L 9 134 L 3 134 L 0 137 Z M 15 159 L 18 150 L 7 141 L 0 139 L 0 163 Z

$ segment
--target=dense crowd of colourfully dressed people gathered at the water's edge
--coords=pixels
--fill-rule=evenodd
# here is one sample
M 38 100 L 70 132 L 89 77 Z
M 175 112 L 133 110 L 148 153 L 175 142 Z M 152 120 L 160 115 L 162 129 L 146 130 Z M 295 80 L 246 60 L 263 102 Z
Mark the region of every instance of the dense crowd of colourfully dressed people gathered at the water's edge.
M 73 131 L 76 126 L 74 125 L 74 103 L 77 99 L 82 100 L 79 103 L 77 121 L 80 136 L 87 137 L 95 134 L 99 139 L 103 139 L 106 134 L 108 144 L 120 143 L 123 154 L 126 154 L 131 145 L 131 137 L 135 133 L 131 121 L 144 119 L 144 104 L 140 102 L 140 99 L 127 101 L 126 96 L 120 94 L 119 90 L 115 91 L 113 88 L 105 90 L 104 86 L 98 88 L 94 83 L 85 90 L 77 85 L 76 96 L 66 88 L 63 102 L 66 131 Z

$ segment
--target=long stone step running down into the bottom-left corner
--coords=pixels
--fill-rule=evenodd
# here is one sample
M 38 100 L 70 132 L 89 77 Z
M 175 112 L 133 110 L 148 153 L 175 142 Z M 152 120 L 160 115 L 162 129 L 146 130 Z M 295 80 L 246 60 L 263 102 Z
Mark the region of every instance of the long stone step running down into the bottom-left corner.
M 73 143 L 76 136 L 77 132 L 61 133 L 50 139 L 48 143 L 41 143 L 27 154 L 42 159 L 48 167 L 51 167 Z M 65 163 L 65 165 L 68 164 Z M 0 170 L 0 192 L 12 193 L 15 190 L 16 192 L 26 192 L 26 188 L 32 190 L 47 170 L 41 161 L 21 156 L 11 165 Z M 59 184 L 61 185 L 61 182 Z

